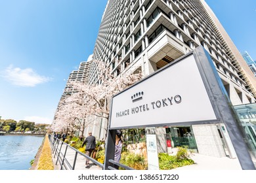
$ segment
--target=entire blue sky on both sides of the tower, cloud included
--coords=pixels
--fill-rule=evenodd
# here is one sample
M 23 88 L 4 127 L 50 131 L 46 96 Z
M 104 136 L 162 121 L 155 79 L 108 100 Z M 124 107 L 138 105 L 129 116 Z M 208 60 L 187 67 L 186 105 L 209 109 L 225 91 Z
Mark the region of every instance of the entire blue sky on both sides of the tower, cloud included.
M 0 116 L 51 124 L 68 75 L 93 53 L 107 0 L 0 0 Z M 206 0 L 256 59 L 255 0 Z

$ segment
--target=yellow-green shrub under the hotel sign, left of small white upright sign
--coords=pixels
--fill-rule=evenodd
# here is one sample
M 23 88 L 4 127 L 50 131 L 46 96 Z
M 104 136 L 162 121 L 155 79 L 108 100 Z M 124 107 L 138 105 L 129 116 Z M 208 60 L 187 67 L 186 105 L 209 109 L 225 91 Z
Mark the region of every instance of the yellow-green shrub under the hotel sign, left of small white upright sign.
M 133 154 L 131 152 L 123 152 L 121 154 L 120 163 L 137 170 L 147 169 L 147 165 L 144 157 L 139 156 L 137 154 Z

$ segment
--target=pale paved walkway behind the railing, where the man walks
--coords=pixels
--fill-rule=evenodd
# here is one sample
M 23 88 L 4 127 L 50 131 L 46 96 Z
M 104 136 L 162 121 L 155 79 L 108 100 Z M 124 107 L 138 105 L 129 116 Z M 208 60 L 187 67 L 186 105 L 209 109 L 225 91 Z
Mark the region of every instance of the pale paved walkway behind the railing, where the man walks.
M 61 146 L 61 143 L 58 144 L 58 147 L 57 147 L 58 150 L 60 150 L 60 146 Z M 65 151 L 66 151 L 66 155 L 65 155 L 66 160 L 70 163 L 70 165 L 72 167 L 74 166 L 74 163 L 75 163 L 75 170 L 93 170 L 93 171 L 94 170 L 102 170 L 101 167 L 99 167 L 98 165 L 95 165 L 95 163 L 93 163 L 91 161 L 90 161 L 90 168 L 89 169 L 85 168 L 86 158 L 84 156 L 82 156 L 81 154 L 77 154 L 76 161 L 74 162 L 75 150 L 70 148 L 70 146 L 67 147 L 66 144 L 63 144 L 60 152 L 62 153 L 62 155 L 64 155 Z M 52 152 L 53 152 L 53 149 L 52 149 Z M 56 161 L 58 161 L 58 162 L 56 163 Z M 53 163 L 54 163 L 54 169 L 56 169 L 56 170 L 61 169 L 62 161 L 61 162 L 59 161 L 58 152 L 55 153 L 55 151 L 53 154 Z M 64 165 L 66 165 L 66 167 L 68 167 L 67 163 L 64 163 Z M 68 169 L 70 169 L 70 167 L 68 167 Z

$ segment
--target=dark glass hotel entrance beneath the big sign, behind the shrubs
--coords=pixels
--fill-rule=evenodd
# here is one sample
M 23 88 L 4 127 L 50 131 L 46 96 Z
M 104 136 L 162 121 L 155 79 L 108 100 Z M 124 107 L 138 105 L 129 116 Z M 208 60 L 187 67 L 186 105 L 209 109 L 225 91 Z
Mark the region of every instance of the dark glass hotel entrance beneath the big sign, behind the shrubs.
M 171 145 L 173 148 L 181 146 L 198 152 L 191 125 L 167 127 L 165 131 L 171 135 Z

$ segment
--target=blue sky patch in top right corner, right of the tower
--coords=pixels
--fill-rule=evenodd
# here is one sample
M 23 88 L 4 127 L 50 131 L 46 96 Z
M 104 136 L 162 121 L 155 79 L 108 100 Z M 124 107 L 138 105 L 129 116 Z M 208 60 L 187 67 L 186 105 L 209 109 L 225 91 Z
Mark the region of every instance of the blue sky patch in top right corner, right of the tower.
M 256 1 L 205 0 L 240 52 L 256 60 Z

